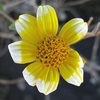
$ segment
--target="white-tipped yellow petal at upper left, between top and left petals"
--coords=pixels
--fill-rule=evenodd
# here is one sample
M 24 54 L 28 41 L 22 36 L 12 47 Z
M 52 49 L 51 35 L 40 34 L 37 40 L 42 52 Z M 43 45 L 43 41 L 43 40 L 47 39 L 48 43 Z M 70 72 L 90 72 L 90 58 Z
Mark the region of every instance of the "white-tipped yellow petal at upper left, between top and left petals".
M 15 27 L 21 38 L 28 42 L 36 43 L 41 38 L 37 27 L 37 20 L 31 15 L 20 15 L 15 22 Z

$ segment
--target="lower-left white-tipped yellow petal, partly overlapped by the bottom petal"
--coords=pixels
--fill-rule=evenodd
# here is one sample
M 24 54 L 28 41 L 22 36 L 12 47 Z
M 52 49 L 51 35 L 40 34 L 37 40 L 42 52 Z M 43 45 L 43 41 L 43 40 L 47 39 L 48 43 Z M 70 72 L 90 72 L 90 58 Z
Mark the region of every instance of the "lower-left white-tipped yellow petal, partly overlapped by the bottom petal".
M 36 81 L 37 81 L 36 77 L 41 73 L 41 71 L 42 71 L 41 64 L 38 62 L 34 62 L 28 65 L 23 70 L 24 79 L 27 81 L 29 85 L 34 86 L 36 85 Z

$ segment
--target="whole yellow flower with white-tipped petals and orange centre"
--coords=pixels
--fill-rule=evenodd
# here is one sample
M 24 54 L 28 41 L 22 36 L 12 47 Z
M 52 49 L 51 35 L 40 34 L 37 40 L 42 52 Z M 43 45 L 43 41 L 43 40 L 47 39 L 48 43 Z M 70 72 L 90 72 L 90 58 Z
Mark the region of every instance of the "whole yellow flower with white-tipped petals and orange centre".
M 58 32 L 58 19 L 53 7 L 39 6 L 37 18 L 23 14 L 15 22 L 22 41 L 9 44 L 15 63 L 29 64 L 23 71 L 27 83 L 48 95 L 56 90 L 60 74 L 70 84 L 83 82 L 83 60 L 69 45 L 79 41 L 88 30 L 81 18 L 67 22 Z M 60 73 L 59 73 L 60 72 Z

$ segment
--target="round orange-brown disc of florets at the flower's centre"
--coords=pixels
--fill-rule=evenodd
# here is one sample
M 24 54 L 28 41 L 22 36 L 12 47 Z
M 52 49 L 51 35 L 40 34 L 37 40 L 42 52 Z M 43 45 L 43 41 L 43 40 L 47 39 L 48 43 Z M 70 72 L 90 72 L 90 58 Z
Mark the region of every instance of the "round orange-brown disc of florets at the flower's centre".
M 58 36 L 48 36 L 37 45 L 37 60 L 46 67 L 58 67 L 66 60 L 69 47 Z

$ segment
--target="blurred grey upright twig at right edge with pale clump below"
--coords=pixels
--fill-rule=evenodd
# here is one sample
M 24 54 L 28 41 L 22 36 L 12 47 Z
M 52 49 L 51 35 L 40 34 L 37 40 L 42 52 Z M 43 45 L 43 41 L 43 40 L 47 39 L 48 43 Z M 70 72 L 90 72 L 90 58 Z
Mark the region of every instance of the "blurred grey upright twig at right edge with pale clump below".
M 98 23 L 95 26 L 95 28 L 93 29 L 92 32 L 94 32 L 94 35 L 97 34 L 96 32 L 99 30 L 99 28 L 100 28 L 100 23 Z M 91 53 L 91 61 L 88 62 L 87 66 L 85 67 L 85 70 L 88 73 L 90 73 L 90 75 L 91 75 L 91 82 L 92 83 L 96 83 L 96 81 L 100 82 L 100 77 L 99 77 L 99 74 L 98 74 L 98 71 L 100 71 L 100 66 L 97 66 L 95 64 L 98 46 L 99 46 L 99 37 L 96 35 L 96 38 L 95 38 L 95 41 L 94 41 L 94 45 L 93 45 L 93 49 L 92 49 L 92 53 Z

